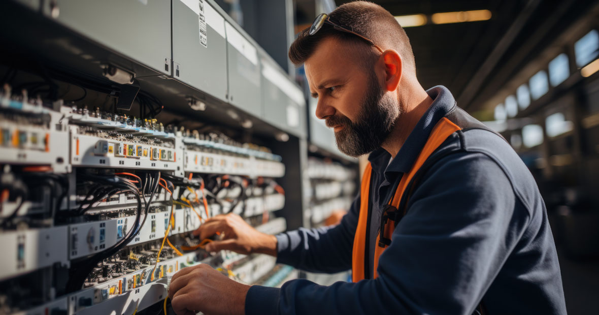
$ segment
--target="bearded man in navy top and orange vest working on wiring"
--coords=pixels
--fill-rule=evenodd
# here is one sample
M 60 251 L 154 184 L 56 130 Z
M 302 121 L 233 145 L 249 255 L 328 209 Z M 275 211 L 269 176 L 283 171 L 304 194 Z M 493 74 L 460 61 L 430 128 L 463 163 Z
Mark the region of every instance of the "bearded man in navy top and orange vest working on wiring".
M 447 47 L 448 50 L 452 47 Z M 416 79 L 409 40 L 369 2 L 320 16 L 289 50 L 304 64 L 316 115 L 338 148 L 370 153 L 359 196 L 340 224 L 268 236 L 240 217 L 208 251 L 267 253 L 352 283 L 246 286 L 208 266 L 174 275 L 177 314 L 565 314 L 558 259 L 539 190 L 510 145 Z

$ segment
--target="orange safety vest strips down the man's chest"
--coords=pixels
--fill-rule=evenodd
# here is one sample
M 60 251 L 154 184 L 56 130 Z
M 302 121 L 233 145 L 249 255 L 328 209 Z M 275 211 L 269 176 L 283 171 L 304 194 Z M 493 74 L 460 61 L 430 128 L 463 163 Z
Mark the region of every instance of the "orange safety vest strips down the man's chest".
M 386 206 L 385 211 L 382 214 L 383 222 L 382 227 L 384 229 L 381 230 L 383 235 L 383 239 L 381 239 L 381 235 L 377 236 L 376 249 L 374 250 L 374 266 L 373 275 L 374 278 L 377 277 L 377 266 L 379 265 L 379 257 L 380 254 L 383 253 L 385 248 L 387 248 L 391 244 L 391 235 L 395 230 L 395 221 L 388 220 L 390 212 L 397 212 L 400 208 L 400 202 L 408 184 L 414 178 L 420 167 L 425 163 L 426 159 L 432 154 L 432 152 L 437 149 L 441 143 L 443 143 L 447 137 L 449 137 L 455 131 L 461 130 L 458 125 L 454 124 L 452 121 L 447 119 L 446 117 L 441 118 L 439 122 L 435 125 L 435 127 L 431 131 L 431 135 L 428 137 L 426 144 L 420 151 L 420 155 L 416 158 L 415 163 L 410 169 L 409 172 L 405 173 L 401 177 L 401 181 L 397 186 L 397 190 L 395 190 L 394 196 L 389 201 L 389 205 Z M 358 282 L 366 278 L 367 274 L 370 274 L 369 271 L 365 270 L 365 259 L 368 259 L 368 253 L 366 253 L 366 242 L 368 241 L 367 235 L 367 226 L 368 226 L 368 206 L 370 203 L 370 178 L 372 173 L 372 166 L 370 163 L 366 166 L 364 170 L 364 175 L 362 175 L 362 187 L 360 190 L 360 214 L 358 217 L 358 227 L 356 228 L 356 234 L 353 239 L 353 251 L 352 251 L 352 280 L 353 282 Z M 406 200 L 407 202 L 407 200 Z M 405 203 L 405 202 L 404 202 Z M 403 214 L 404 215 L 405 211 Z M 368 272 L 368 273 L 367 273 Z

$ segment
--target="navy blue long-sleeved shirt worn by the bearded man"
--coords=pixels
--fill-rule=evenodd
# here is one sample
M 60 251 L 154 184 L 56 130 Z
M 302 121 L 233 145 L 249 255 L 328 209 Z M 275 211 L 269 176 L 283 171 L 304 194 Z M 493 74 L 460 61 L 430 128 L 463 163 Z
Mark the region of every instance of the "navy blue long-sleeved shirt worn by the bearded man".
M 456 110 L 443 86 L 427 92 L 434 102 L 391 163 L 383 149 L 369 157 L 376 189 L 371 266 L 392 185 L 410 170 L 434 125 Z M 376 279 L 252 286 L 246 314 L 470 315 L 480 301 L 489 314 L 566 314 L 546 209 L 527 167 L 487 130 L 458 131 L 431 158 L 451 150 L 459 152 L 441 158 L 415 187 L 406 216 L 379 258 Z M 350 269 L 359 205 L 358 195 L 337 226 L 277 235 L 277 262 L 312 272 Z

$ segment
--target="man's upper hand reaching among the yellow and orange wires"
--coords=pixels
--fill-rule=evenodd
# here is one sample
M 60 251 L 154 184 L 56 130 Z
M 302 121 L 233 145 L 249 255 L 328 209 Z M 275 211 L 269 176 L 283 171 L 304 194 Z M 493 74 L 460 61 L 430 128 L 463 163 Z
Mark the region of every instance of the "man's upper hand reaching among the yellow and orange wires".
M 258 232 L 237 214 L 221 214 L 209 218 L 193 231 L 193 235 L 205 239 L 216 232 L 224 233 L 222 241 L 208 243 L 205 250 L 232 250 L 240 254 L 262 253 L 277 256 L 277 238 Z

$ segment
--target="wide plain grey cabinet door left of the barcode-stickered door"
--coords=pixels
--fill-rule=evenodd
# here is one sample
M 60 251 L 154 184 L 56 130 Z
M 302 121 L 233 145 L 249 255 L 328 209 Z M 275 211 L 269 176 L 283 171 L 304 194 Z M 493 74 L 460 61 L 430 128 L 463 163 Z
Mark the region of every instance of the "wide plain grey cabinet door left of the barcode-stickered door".
M 56 0 L 58 11 L 50 2 L 44 4 L 44 14 L 59 23 L 134 62 L 171 74 L 170 1 Z

